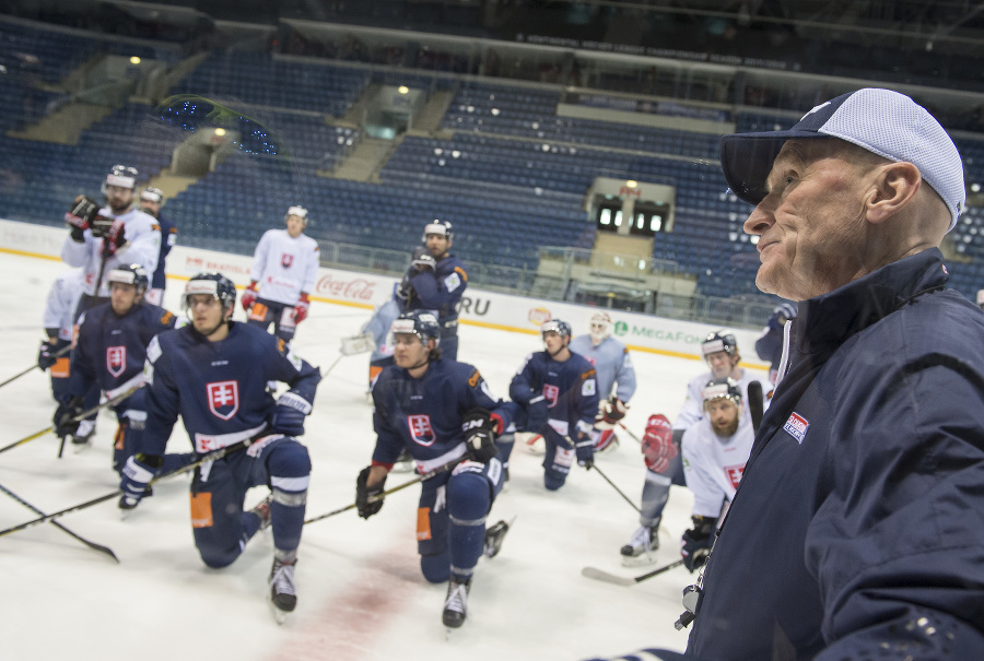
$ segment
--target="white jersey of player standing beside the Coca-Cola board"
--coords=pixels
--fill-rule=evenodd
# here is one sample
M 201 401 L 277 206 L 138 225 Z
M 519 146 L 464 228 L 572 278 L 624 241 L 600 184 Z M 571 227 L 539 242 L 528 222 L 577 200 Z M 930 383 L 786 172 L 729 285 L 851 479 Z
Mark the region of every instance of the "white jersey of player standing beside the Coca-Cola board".
M 292 306 L 314 290 L 319 263 L 318 243 L 309 236 L 268 229 L 256 245 L 249 278 L 259 283 L 260 298 Z

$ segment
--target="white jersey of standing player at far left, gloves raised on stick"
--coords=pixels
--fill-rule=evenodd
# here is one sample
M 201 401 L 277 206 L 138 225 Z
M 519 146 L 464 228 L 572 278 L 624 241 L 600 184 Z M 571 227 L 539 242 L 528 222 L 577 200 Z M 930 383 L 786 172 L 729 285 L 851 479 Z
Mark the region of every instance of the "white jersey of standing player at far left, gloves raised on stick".
M 126 213 L 115 214 L 108 206 L 99 210 L 99 214 L 109 219 L 124 221 L 124 236 L 127 243 L 103 263 L 103 238 L 92 236 L 92 231 L 82 233 L 83 241 L 77 243 L 71 236 L 65 237 L 61 245 L 61 260 L 70 267 L 81 267 L 84 275 L 82 291 L 90 296 L 109 296 L 106 276 L 109 271 L 128 264 L 140 264 L 147 269 L 148 275 L 157 268 L 161 253 L 161 226 L 154 216 L 139 209 L 130 209 Z M 96 282 L 99 278 L 101 282 Z

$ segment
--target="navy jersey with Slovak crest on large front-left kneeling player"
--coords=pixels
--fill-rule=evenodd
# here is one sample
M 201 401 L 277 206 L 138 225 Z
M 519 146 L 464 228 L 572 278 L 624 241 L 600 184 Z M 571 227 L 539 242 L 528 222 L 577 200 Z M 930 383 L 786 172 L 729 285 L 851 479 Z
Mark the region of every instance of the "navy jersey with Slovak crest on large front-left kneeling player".
M 147 352 L 147 430 L 140 451 L 164 455 L 180 414 L 197 452 L 251 438 L 269 425 L 277 403 L 267 381 L 291 386 L 314 403 L 320 373 L 289 344 L 259 327 L 230 322 L 211 342 L 191 326 L 154 338 Z

